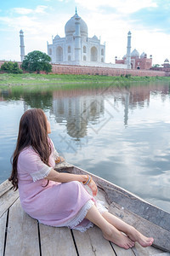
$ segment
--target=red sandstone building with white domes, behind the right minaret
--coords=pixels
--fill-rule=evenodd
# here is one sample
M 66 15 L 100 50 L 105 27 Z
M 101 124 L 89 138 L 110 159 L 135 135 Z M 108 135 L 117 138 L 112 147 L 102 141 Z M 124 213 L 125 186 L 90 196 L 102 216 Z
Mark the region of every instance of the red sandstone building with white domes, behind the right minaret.
M 115 57 L 116 64 L 125 64 L 127 63 L 127 55 L 124 55 L 122 60 L 117 60 Z M 147 55 L 143 52 L 139 55 L 137 49 L 133 49 L 131 53 L 131 68 L 132 69 L 150 69 L 152 67 L 152 55 L 150 58 L 147 58 Z

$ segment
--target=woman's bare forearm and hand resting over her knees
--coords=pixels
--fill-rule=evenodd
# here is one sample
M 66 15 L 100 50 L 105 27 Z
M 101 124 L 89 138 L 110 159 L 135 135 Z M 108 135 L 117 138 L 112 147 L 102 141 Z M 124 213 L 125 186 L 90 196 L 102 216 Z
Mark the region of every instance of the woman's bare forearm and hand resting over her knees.
M 56 172 L 52 169 L 48 176 L 45 179 L 52 180 L 58 183 L 68 183 L 71 181 L 78 181 L 81 183 L 85 183 L 88 180 L 88 175 L 80 175 L 80 174 L 71 174 L 71 173 L 63 173 L 63 172 Z M 93 195 L 97 195 L 98 188 L 94 180 L 91 179 L 88 183 L 88 187 L 92 190 Z

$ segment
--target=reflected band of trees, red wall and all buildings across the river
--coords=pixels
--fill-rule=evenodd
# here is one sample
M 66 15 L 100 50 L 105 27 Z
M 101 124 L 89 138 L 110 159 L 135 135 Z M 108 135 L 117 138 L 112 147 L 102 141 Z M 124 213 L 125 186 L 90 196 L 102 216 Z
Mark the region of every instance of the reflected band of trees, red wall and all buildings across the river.
M 27 108 L 50 109 L 57 123 L 67 123 L 67 131 L 71 137 L 81 138 L 87 135 L 88 122 L 96 124 L 100 115 L 105 113 L 105 101 L 119 112 L 120 104 L 124 106 L 124 125 L 127 126 L 129 109 L 148 108 L 150 96 L 161 96 L 165 102 L 170 85 L 147 84 L 140 86 L 109 86 L 88 90 L 39 90 L 9 89 L 0 90 L 0 102 L 20 101 Z M 110 100 L 111 99 L 111 100 Z

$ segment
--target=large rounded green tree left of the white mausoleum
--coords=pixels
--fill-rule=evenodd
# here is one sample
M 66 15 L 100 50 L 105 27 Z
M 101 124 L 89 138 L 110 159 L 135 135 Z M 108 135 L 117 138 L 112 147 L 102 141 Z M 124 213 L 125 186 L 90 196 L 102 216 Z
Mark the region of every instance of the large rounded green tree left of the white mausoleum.
M 24 61 L 22 61 L 21 67 L 29 73 L 40 73 L 40 71 L 45 71 L 46 73 L 49 73 L 52 70 L 52 66 L 49 61 L 51 61 L 51 58 L 48 55 L 42 53 L 39 50 L 34 50 L 25 56 Z

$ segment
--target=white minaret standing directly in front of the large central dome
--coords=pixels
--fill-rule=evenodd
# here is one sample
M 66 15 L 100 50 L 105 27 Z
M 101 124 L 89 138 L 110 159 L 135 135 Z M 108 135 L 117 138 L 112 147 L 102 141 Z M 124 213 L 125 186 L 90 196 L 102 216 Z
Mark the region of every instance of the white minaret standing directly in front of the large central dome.
M 80 33 L 80 20 L 81 18 L 77 15 L 77 9 L 76 9 L 76 15 L 75 15 L 75 61 L 81 61 L 81 33 Z

